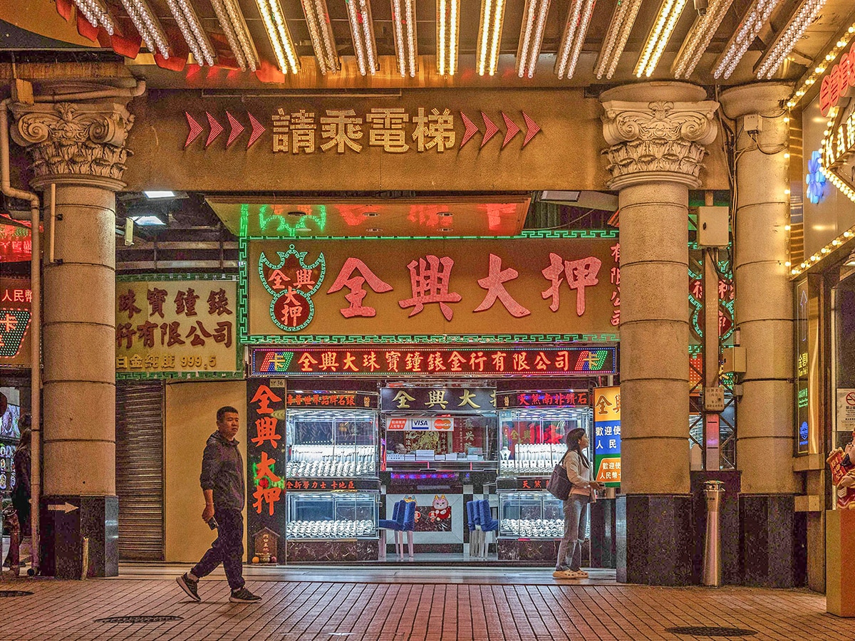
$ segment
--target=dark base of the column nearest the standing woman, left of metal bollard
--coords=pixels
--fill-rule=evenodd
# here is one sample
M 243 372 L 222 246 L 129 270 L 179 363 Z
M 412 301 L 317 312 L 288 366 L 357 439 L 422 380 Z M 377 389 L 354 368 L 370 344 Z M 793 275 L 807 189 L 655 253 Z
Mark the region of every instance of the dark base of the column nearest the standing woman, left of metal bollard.
M 692 585 L 692 495 L 622 494 L 616 524 L 618 581 Z

